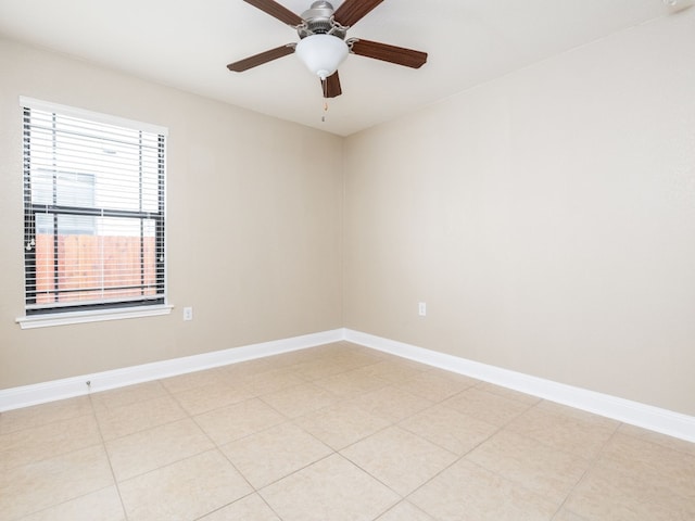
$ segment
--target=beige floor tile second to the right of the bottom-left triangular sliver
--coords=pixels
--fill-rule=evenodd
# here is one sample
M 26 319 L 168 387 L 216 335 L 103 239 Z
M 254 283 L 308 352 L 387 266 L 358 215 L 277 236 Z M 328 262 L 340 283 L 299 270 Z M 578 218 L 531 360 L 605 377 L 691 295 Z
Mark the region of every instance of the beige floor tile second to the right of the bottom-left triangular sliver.
M 283 423 L 222 447 L 256 488 L 285 478 L 332 450 L 292 423 Z

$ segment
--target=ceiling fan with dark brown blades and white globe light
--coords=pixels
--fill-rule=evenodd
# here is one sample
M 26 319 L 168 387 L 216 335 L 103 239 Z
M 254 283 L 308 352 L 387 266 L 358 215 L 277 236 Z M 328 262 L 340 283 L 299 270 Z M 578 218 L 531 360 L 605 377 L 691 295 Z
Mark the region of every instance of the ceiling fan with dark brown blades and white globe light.
M 300 41 L 230 63 L 227 65 L 229 71 L 241 73 L 296 53 L 320 78 L 324 98 L 336 98 L 342 93 L 338 66 L 349 53 L 413 68 L 419 68 L 427 62 L 426 52 L 359 38 L 345 39 L 348 30 L 383 0 L 345 0 L 337 10 L 327 1 L 315 1 L 301 16 L 275 0 L 244 1 L 291 26 Z

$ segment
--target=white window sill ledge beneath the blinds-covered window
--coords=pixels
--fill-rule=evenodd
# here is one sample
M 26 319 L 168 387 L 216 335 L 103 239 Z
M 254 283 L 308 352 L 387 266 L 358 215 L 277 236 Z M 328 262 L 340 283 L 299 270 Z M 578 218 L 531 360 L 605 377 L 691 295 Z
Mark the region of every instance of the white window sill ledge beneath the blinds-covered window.
M 122 307 L 115 309 L 98 309 L 89 312 L 52 313 L 47 315 L 18 317 L 16 319 L 16 322 L 22 329 L 50 328 L 53 326 L 68 326 L 73 323 L 123 320 L 126 318 L 156 317 L 160 315 L 169 315 L 173 308 L 174 306 L 162 304 L 157 306 Z

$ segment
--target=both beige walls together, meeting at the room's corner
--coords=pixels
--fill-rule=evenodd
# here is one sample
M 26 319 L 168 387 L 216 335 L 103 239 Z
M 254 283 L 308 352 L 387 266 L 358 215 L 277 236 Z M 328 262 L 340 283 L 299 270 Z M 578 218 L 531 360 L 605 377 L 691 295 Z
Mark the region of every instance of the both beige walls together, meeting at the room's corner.
M 695 415 L 691 11 L 346 140 L 0 41 L 0 389 L 345 326 Z M 169 128 L 173 315 L 14 323 L 20 94 Z

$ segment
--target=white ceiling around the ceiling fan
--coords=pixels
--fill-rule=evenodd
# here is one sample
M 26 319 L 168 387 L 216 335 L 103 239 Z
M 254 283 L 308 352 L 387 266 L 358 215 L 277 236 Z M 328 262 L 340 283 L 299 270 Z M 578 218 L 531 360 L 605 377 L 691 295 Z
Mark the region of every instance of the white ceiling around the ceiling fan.
M 311 1 L 279 3 L 301 14 Z M 350 55 L 326 113 L 294 55 L 227 71 L 298 39 L 242 0 L 0 0 L 0 36 L 348 136 L 668 12 L 662 0 L 384 0 L 348 36 L 426 51 L 428 63 Z

